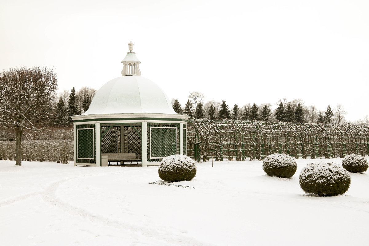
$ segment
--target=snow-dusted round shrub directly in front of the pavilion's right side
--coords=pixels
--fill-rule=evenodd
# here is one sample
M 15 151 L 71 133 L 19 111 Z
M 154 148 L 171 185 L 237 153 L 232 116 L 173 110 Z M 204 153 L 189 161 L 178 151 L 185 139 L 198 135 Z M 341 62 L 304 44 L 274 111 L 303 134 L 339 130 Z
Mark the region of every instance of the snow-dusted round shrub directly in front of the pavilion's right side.
M 161 161 L 158 173 L 167 182 L 192 180 L 196 175 L 196 164 L 188 156 L 171 155 Z

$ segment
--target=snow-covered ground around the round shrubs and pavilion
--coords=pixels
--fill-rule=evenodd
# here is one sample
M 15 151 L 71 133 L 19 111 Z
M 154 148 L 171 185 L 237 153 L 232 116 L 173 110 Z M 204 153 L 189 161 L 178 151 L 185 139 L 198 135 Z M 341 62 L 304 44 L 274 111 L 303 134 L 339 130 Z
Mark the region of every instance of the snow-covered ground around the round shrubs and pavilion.
M 262 161 L 200 163 L 179 182 L 193 189 L 149 184 L 158 167 L 0 160 L 0 244 L 369 245 L 369 174 L 314 197 L 298 178 L 310 162 L 292 179 L 266 176 Z

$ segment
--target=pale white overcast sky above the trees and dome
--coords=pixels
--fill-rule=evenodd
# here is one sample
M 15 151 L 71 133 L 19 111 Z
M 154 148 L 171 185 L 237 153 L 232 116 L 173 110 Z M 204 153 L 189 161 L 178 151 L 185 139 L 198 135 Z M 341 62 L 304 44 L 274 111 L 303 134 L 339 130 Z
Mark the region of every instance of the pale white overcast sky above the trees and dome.
M 0 0 L 0 69 L 54 66 L 59 89 L 121 76 L 132 41 L 142 76 L 182 105 L 301 98 L 369 114 L 367 0 Z

